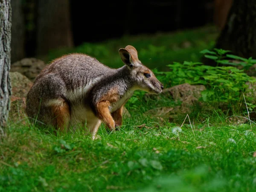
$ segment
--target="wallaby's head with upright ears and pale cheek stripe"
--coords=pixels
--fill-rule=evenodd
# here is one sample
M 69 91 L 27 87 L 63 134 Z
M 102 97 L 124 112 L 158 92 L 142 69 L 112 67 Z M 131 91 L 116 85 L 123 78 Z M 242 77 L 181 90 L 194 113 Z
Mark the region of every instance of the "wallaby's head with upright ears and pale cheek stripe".
M 138 59 L 137 50 L 128 45 L 125 49 L 119 49 L 119 54 L 127 65 L 128 69 L 131 70 L 131 79 L 133 79 L 138 88 L 145 90 L 149 93 L 161 93 L 163 90 L 163 84 L 158 81 L 154 73 L 145 67 Z

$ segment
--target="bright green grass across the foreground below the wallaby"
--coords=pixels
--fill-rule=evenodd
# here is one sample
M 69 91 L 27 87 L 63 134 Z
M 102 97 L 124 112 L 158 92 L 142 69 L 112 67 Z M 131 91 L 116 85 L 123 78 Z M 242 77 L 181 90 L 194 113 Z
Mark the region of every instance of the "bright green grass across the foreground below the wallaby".
M 256 190 L 255 126 L 216 119 L 193 126 L 194 135 L 188 121 L 177 134 L 172 123 L 132 115 L 94 141 L 14 126 L 0 144 L 0 191 Z

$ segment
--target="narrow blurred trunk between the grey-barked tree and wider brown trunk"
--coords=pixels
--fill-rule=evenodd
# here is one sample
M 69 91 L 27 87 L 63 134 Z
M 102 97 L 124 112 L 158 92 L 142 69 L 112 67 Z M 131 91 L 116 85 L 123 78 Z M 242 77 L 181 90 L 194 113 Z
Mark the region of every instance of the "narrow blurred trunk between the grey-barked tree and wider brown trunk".
M 12 63 L 25 57 L 25 23 L 23 0 L 12 0 Z

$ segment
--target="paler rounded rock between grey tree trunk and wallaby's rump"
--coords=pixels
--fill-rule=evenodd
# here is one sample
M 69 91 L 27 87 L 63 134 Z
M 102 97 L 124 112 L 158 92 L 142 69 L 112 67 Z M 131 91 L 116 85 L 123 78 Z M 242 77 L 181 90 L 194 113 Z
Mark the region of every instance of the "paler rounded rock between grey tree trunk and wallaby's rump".
M 18 72 L 10 72 L 12 95 L 16 97 L 26 97 L 33 83 Z

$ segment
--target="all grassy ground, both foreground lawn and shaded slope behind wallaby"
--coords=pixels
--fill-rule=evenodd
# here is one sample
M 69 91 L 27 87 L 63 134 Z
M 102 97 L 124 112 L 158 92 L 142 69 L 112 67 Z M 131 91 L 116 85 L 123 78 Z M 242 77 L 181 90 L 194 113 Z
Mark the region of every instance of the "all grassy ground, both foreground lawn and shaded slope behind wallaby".
M 153 67 L 157 62 L 164 70 L 175 60 L 199 61 L 199 52 L 214 44 L 216 32 L 212 31 L 143 35 L 129 41 L 124 37 L 84 44 L 76 52 L 93 53 L 103 63 L 117 67 L 121 64 L 117 61 L 118 41 L 123 47 L 134 45 L 143 63 Z M 190 47 L 169 50 L 182 42 L 189 42 Z M 82 47 L 87 50 L 80 51 Z M 52 52 L 49 58 L 62 53 Z M 180 104 L 169 96 L 145 99 L 143 92 L 136 92 L 125 105 L 131 116 L 124 118 L 120 130 L 109 133 L 101 125 L 96 140 L 83 130 L 54 134 L 50 129 L 9 122 L 0 143 L 0 191 L 255 191 L 255 123 L 238 123 L 236 118 L 230 120 L 229 113 L 214 108 L 189 113 L 190 118 L 180 114 L 174 121 L 147 113 Z

